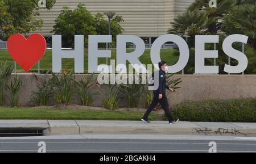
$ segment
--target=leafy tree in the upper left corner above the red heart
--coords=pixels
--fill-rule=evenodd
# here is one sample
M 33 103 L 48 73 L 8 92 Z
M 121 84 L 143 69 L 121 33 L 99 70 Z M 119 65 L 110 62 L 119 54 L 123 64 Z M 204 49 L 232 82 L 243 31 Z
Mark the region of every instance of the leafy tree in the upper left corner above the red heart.
M 56 0 L 47 0 L 49 10 Z M 1 0 L 0 1 L 0 37 L 7 39 L 13 33 L 26 34 L 42 27 L 43 20 L 39 15 L 38 0 Z

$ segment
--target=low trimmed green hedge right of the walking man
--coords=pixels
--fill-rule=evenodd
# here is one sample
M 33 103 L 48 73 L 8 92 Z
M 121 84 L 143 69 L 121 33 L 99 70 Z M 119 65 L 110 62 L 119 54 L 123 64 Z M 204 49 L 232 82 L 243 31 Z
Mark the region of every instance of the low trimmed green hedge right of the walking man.
M 177 104 L 171 113 L 183 121 L 256 122 L 256 99 L 189 101 Z

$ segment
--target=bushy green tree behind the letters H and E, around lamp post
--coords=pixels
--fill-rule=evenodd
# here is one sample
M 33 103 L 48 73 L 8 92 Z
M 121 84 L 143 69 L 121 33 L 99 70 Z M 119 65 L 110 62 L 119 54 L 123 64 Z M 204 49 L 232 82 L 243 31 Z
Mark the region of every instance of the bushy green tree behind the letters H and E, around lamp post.
M 108 35 L 109 23 L 104 19 L 104 15 L 98 13 L 92 16 L 85 5 L 79 4 L 77 9 L 71 10 L 64 7 L 61 14 L 55 20 L 53 31 L 56 35 L 62 35 L 63 47 L 70 47 L 74 44 L 74 35 L 85 36 L 85 47 L 88 45 L 88 35 Z M 116 35 L 122 33 L 120 22 L 123 22 L 122 16 L 116 15 L 111 22 L 111 33 L 113 39 Z

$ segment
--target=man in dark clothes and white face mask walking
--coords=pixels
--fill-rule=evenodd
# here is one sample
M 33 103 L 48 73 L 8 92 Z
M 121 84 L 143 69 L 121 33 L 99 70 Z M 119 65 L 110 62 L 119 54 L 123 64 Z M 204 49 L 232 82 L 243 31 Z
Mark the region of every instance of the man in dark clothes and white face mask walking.
M 152 103 L 150 104 L 150 106 L 147 108 L 146 113 L 144 114 L 144 116 L 142 117 L 142 121 L 144 123 L 150 123 L 150 121 L 148 121 L 148 115 L 150 114 L 150 112 L 155 108 L 155 106 L 160 103 L 160 105 L 162 106 L 164 112 L 166 113 L 166 116 L 169 120 L 169 124 L 174 124 L 177 121 L 179 121 L 179 119 L 175 120 L 171 114 L 170 114 L 170 109 L 169 109 L 169 104 L 168 104 L 168 100 L 166 97 L 166 89 L 173 92 L 174 90 L 171 89 L 170 87 L 168 87 L 166 85 L 166 62 L 165 61 L 160 61 L 158 63 L 159 66 L 159 83 L 158 83 L 158 89 L 153 91 L 154 97 L 152 100 Z

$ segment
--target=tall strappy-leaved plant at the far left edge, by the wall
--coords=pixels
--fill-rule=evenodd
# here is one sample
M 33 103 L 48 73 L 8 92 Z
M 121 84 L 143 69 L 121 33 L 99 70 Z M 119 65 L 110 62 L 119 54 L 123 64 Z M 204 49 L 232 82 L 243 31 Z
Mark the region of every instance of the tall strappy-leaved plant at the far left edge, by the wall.
M 6 81 L 13 72 L 13 64 L 5 62 L 0 63 L 0 106 L 5 103 L 5 87 Z

